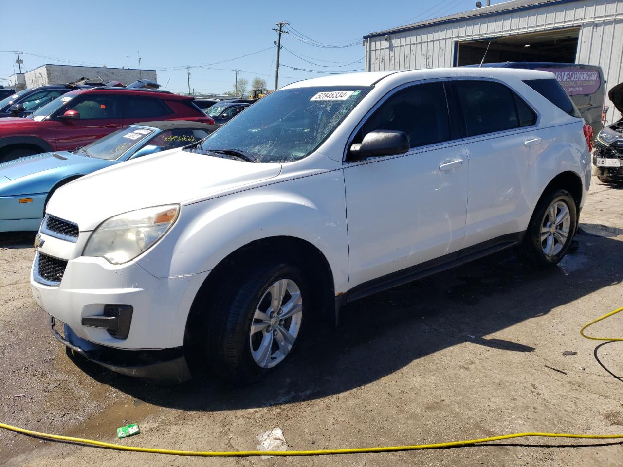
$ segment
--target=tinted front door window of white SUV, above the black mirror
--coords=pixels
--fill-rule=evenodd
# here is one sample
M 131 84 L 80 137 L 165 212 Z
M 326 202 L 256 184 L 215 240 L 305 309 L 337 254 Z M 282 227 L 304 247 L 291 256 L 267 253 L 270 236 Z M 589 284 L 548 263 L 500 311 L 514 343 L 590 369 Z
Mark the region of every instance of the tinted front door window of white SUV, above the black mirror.
M 368 118 L 353 143 L 361 143 L 374 130 L 404 131 L 411 148 L 449 141 L 450 118 L 443 83 L 424 83 L 397 91 Z

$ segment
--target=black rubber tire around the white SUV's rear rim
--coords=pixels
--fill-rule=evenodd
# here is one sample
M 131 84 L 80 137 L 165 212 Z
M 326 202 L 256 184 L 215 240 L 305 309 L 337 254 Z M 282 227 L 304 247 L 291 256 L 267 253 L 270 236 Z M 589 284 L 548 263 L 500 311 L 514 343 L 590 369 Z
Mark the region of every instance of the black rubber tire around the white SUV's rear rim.
M 553 249 L 551 251 L 555 251 L 555 253 L 548 255 L 545 253 L 544 248 L 546 245 L 549 245 L 549 240 L 541 242 L 541 230 L 551 224 L 548 220 L 549 209 L 557 203 L 563 203 L 569 210 L 568 234 L 564 242 L 560 242 L 556 235 L 551 235 L 551 242 L 554 242 L 553 248 L 555 248 L 555 250 Z M 560 211 L 555 210 L 555 212 L 559 213 Z M 553 191 L 545 193 L 536 205 L 535 212 L 530 219 L 530 224 L 528 224 L 528 229 L 526 229 L 523 242 L 518 247 L 520 257 L 531 266 L 537 268 L 549 268 L 557 265 L 569 250 L 569 246 L 571 242 L 573 242 L 573 235 L 576 232 L 577 225 L 578 209 L 571 193 L 562 189 L 554 189 Z

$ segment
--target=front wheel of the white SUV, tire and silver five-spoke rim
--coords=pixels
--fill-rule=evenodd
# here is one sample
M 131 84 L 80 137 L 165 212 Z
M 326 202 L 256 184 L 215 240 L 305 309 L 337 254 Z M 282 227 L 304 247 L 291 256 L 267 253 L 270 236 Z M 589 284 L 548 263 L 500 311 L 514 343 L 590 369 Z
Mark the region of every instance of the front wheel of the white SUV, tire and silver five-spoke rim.
M 246 384 L 292 357 L 302 340 L 308 295 L 301 271 L 285 263 L 257 265 L 235 282 L 199 318 L 195 333 L 204 330 L 207 341 L 195 346 L 194 361 L 207 361 L 226 382 Z

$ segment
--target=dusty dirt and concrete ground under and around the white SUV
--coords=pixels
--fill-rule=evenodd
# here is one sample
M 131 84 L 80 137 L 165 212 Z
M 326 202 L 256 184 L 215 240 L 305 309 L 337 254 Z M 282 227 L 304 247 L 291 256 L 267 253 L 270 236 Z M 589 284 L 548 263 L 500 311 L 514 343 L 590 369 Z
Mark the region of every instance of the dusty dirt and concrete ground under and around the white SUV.
M 581 222 L 577 252 L 554 270 L 527 270 L 506 252 L 361 300 L 340 328 L 311 336 L 275 377 L 236 390 L 216 381 L 157 387 L 72 362 L 32 300 L 32 234 L 4 235 L 0 420 L 112 442 L 117 427 L 137 422 L 141 434 L 119 443 L 219 451 L 254 450 L 255 437 L 275 427 L 290 450 L 532 431 L 623 433 L 623 380 L 613 376 L 623 375 L 623 342 L 599 346 L 578 334 L 587 321 L 623 306 L 623 189 L 594 179 Z M 623 336 L 619 316 L 591 332 Z M 623 465 L 623 445 L 532 438 L 450 450 L 214 459 L 120 453 L 0 431 L 6 466 L 262 464 L 606 467 Z

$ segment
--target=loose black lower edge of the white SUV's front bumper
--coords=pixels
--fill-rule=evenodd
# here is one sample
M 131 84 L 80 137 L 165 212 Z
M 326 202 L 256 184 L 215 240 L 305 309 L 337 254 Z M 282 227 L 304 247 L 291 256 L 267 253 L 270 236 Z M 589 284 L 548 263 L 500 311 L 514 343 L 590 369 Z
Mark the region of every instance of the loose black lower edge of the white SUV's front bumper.
M 182 347 L 131 351 L 100 346 L 80 339 L 67 324 L 64 324 L 65 336 L 62 336 L 56 329 L 54 316 L 50 316 L 50 331 L 70 351 L 114 372 L 158 384 L 176 384 L 191 379 Z

